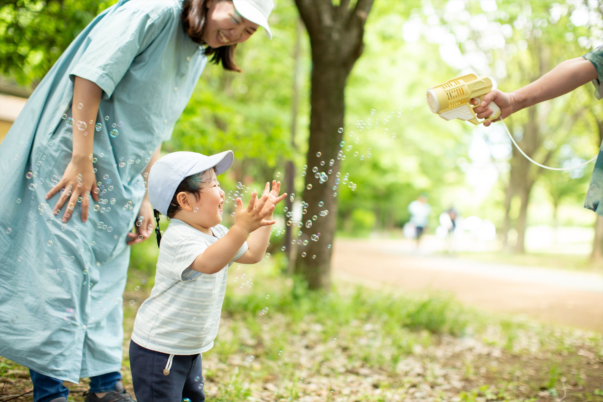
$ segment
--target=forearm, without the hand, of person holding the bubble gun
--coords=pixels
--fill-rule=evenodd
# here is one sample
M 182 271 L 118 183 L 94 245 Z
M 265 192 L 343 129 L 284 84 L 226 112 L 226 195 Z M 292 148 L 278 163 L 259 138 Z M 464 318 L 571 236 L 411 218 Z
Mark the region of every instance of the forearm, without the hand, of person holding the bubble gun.
M 584 57 L 566 60 L 534 82 L 512 92 L 517 105 L 513 111 L 567 94 L 595 78 L 597 71 L 589 60 Z

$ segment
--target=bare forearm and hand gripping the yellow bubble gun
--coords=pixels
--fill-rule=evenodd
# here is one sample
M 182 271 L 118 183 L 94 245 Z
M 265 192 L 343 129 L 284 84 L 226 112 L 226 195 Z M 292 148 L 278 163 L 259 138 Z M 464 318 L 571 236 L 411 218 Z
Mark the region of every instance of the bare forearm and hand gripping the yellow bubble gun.
M 560 97 L 596 78 L 597 71 L 593 63 L 584 57 L 576 57 L 559 63 L 542 77 L 516 91 L 507 93 L 494 89 L 484 96 L 482 103 L 474 107 L 473 111 L 478 118 L 486 118 L 491 114 L 487 105 L 494 101 L 500 107 L 500 118 L 506 118 L 517 110 Z M 472 100 L 472 104 L 477 102 Z M 484 126 L 490 126 L 490 121 L 485 121 Z

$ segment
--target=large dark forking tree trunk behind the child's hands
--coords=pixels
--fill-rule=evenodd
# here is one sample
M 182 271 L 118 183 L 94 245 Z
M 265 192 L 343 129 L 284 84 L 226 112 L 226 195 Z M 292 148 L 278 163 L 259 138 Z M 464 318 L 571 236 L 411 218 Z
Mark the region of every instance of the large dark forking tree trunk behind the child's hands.
M 362 54 L 364 23 L 373 0 L 358 0 L 350 8 L 349 0 L 341 0 L 339 5 L 331 1 L 295 0 L 312 47 L 311 113 L 310 138 L 308 142 L 308 174 L 303 200 L 308 203 L 303 216 L 301 246 L 295 262 L 295 273 L 300 273 L 308 281 L 310 289 L 328 289 L 330 286 L 330 259 L 337 215 L 337 198 L 334 197 L 336 172 L 339 171 L 337 153 L 344 126 L 344 89 L 347 76 L 358 57 Z M 320 152 L 320 154 L 318 154 Z M 335 163 L 330 166 L 329 160 Z M 324 165 L 320 162 L 324 161 Z M 332 170 L 327 181 L 320 183 L 317 173 Z M 308 188 L 310 187 L 310 188 Z M 323 206 L 318 206 L 323 202 Z M 321 216 L 320 211 L 328 211 Z M 317 220 L 312 219 L 316 215 Z M 324 212 L 323 212 L 324 215 Z M 306 227 L 306 221 L 312 223 Z M 320 236 L 318 241 L 312 240 Z

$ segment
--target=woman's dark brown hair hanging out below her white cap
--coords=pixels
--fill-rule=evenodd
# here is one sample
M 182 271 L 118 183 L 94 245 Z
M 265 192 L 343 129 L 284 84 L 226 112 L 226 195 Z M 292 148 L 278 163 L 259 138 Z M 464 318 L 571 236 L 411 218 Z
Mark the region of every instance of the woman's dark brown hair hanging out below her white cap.
M 205 44 L 203 34 L 207 16 L 207 0 L 184 0 L 181 16 L 182 24 L 188 36 L 195 43 Z M 220 46 L 219 48 L 206 46 L 205 55 L 213 55 L 210 60 L 213 64 L 222 63 L 224 69 L 241 72 L 241 69 L 235 63 L 235 48 L 236 43 L 229 46 Z

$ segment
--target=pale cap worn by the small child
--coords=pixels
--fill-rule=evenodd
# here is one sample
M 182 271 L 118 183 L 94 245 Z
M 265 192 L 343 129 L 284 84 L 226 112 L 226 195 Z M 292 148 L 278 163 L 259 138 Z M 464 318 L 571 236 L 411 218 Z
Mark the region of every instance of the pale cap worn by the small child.
M 169 203 L 172 202 L 178 185 L 185 177 L 212 167 L 216 168 L 216 174 L 222 174 L 229 170 L 233 161 L 235 155 L 230 150 L 211 156 L 187 151 L 168 153 L 151 167 L 148 180 L 149 201 L 153 204 L 153 208 L 167 215 Z

